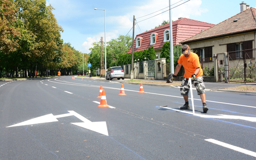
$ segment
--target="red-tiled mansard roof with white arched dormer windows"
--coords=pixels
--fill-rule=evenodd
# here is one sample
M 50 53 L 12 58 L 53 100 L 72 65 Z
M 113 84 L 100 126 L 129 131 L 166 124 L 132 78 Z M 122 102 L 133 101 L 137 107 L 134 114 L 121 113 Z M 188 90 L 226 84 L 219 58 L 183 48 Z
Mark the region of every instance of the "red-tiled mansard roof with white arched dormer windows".
M 214 24 L 205 23 L 189 18 L 179 18 L 172 22 L 173 45 L 180 45 L 181 41 L 192 37 L 206 29 L 211 28 Z M 169 39 L 170 24 L 162 25 L 155 29 L 136 35 L 134 40 L 134 52 L 138 52 L 148 47 L 154 47 L 156 55 L 160 57 L 162 46 Z M 127 53 L 132 53 L 132 47 Z

